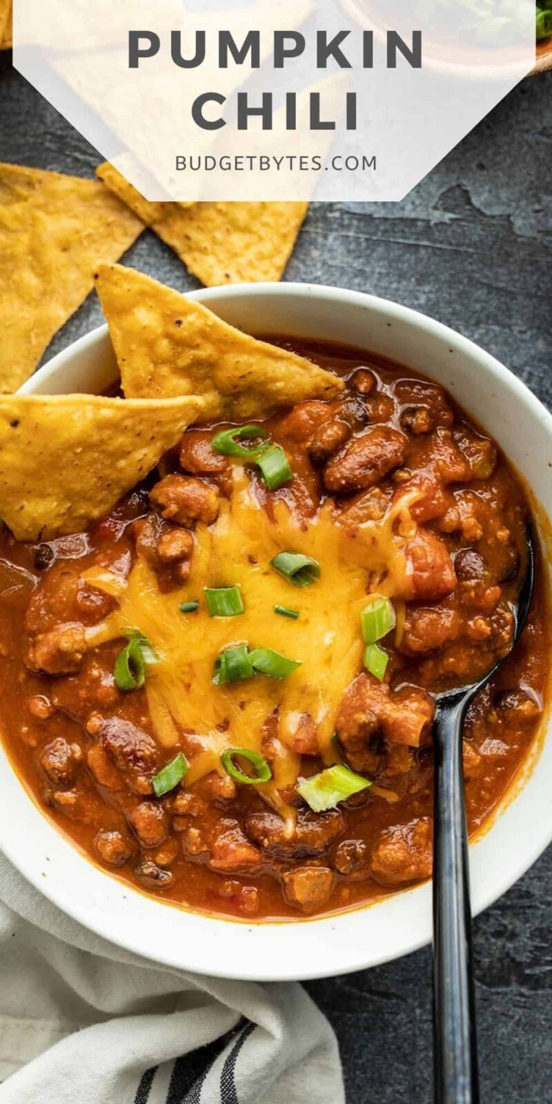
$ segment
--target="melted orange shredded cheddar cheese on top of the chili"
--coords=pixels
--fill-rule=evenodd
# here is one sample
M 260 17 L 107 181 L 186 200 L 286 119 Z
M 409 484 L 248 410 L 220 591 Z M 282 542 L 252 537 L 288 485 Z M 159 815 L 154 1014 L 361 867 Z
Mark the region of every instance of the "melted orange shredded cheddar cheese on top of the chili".
M 164 746 L 179 742 L 182 731 L 197 733 L 201 751 L 192 760 L 187 781 L 192 783 L 221 771 L 225 747 L 261 751 L 262 729 L 277 711 L 282 751 L 273 762 L 273 781 L 259 786 L 265 797 L 290 820 L 279 790 L 293 785 L 300 757 L 289 746 L 304 713 L 318 730 L 320 753 L 335 762 L 331 736 L 344 690 L 361 670 L 363 644 L 360 613 L 367 593 L 379 590 L 390 597 L 404 586 L 402 552 L 412 532 L 403 496 L 381 521 L 348 530 L 337 523 L 336 508 L 326 502 L 310 522 L 297 519 L 287 505 L 274 503 L 274 520 L 254 497 L 245 470 L 234 468 L 231 500 L 221 502 L 217 521 L 199 524 L 194 534 L 192 570 L 185 585 L 161 594 L 155 572 L 138 558 L 126 585 L 99 569 L 83 577 L 117 597 L 118 609 L 87 629 L 89 646 L 137 628 L 153 645 L 160 662 L 149 667 L 146 679 L 151 724 Z M 396 531 L 395 531 L 396 530 Z M 314 556 L 321 577 L 312 586 L 294 587 L 270 560 L 288 550 Z M 210 617 L 203 598 L 205 586 L 238 583 L 245 613 L 238 617 Z M 182 614 L 179 605 L 200 599 L 197 613 Z M 280 617 L 275 605 L 299 609 L 298 620 Z M 283 681 L 257 676 L 247 682 L 213 687 L 217 654 L 231 644 L 267 646 L 301 666 Z

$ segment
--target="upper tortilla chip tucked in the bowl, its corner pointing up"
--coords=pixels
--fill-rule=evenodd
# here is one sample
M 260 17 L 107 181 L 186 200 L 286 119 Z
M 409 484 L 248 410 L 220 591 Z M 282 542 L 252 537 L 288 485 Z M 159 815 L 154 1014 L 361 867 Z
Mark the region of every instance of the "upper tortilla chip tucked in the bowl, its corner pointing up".
M 241 421 L 343 388 L 317 364 L 242 333 L 134 268 L 102 264 L 96 287 L 129 399 L 203 395 L 206 420 Z

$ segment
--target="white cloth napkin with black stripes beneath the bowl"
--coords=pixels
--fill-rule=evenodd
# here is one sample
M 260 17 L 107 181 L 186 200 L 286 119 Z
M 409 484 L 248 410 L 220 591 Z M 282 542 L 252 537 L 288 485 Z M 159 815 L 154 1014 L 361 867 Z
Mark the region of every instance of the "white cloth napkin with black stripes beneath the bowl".
M 0 853 L 0 1104 L 343 1104 L 300 985 L 148 963 L 65 916 Z

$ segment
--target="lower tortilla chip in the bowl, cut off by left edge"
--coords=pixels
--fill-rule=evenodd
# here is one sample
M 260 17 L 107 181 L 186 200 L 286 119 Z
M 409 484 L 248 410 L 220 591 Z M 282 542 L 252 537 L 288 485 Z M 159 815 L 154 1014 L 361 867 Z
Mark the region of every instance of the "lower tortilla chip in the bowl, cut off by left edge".
M 0 517 L 18 540 L 75 533 L 156 467 L 201 399 L 0 397 Z

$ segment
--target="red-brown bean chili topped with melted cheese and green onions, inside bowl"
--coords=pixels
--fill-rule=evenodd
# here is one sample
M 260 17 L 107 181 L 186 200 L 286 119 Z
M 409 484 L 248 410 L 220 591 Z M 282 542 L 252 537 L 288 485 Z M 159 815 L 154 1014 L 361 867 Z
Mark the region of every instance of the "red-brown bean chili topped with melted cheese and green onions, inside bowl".
M 508 651 L 530 517 L 440 386 L 267 340 L 346 390 L 188 429 L 85 533 L 0 533 L 3 740 L 34 799 L 132 885 L 258 921 L 429 877 L 433 696 Z M 535 739 L 548 624 L 539 554 L 465 726 L 470 832 Z

